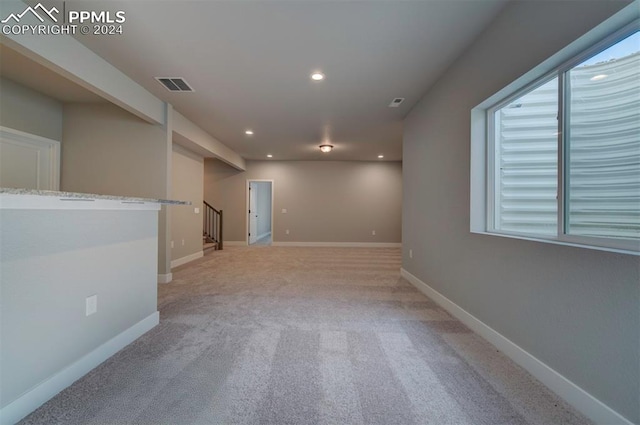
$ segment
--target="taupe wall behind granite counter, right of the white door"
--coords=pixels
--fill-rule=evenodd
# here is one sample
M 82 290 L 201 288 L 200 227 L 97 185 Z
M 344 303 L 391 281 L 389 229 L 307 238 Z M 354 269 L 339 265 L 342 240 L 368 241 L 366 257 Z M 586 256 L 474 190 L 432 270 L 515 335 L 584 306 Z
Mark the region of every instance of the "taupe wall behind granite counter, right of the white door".
M 170 197 L 171 146 L 164 127 L 112 104 L 65 104 L 63 139 L 61 190 Z M 162 206 L 159 216 L 159 274 L 171 271 L 166 258 L 167 208 L 172 207 Z

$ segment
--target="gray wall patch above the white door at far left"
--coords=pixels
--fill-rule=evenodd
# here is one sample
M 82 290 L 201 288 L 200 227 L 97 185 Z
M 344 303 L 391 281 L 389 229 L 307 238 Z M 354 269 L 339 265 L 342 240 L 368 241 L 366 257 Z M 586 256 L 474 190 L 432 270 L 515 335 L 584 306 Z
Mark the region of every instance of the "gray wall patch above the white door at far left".
M 62 103 L 0 78 L 0 126 L 62 140 Z

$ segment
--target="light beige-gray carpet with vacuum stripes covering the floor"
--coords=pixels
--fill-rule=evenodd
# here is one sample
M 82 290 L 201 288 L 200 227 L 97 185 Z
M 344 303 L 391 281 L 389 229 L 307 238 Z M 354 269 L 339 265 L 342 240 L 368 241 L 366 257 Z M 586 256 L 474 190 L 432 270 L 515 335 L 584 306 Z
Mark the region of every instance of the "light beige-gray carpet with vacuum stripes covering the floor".
M 399 249 L 229 247 L 24 424 L 586 424 L 400 277 Z

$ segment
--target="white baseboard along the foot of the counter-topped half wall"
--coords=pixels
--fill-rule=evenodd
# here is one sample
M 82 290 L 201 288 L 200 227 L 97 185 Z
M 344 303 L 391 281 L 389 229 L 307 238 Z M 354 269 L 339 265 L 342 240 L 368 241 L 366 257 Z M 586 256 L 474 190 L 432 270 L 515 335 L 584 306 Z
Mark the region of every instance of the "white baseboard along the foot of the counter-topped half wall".
M 0 425 L 18 422 L 100 363 L 151 330 L 159 322 L 160 314 L 156 311 L 26 392 L 17 400 L 0 409 Z

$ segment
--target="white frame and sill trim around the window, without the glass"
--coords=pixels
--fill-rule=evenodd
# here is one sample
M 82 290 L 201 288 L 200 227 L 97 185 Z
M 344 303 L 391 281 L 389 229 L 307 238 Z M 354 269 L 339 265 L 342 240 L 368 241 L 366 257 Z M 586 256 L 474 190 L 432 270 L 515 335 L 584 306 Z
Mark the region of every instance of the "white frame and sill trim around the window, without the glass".
M 470 231 L 471 233 L 503 236 L 514 239 L 573 246 L 629 255 L 640 255 L 640 241 L 614 236 L 589 236 L 567 234 L 566 199 L 568 160 L 567 147 L 570 140 L 567 93 L 565 80 L 568 72 L 584 60 L 614 46 L 640 28 L 640 8 L 638 0 L 627 5 L 615 15 L 606 19 L 587 34 L 569 46 L 552 55 L 525 75 L 489 97 L 471 110 L 471 159 L 470 159 Z M 553 79 L 558 80 L 558 158 L 557 158 L 557 225 L 556 234 L 522 234 L 496 228 L 498 193 L 495 191 L 496 175 L 499 171 L 495 163 L 497 153 L 494 140 L 494 113 L 514 99 L 530 93 Z

